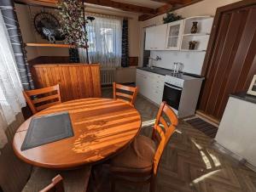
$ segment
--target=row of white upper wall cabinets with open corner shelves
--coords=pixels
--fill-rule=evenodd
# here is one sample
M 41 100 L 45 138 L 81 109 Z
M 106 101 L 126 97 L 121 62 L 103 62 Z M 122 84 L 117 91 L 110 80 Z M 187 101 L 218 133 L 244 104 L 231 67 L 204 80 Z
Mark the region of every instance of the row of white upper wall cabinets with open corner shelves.
M 206 51 L 212 30 L 211 16 L 195 16 L 146 29 L 146 50 Z M 191 33 L 192 25 L 197 30 Z M 189 44 L 194 43 L 194 48 Z

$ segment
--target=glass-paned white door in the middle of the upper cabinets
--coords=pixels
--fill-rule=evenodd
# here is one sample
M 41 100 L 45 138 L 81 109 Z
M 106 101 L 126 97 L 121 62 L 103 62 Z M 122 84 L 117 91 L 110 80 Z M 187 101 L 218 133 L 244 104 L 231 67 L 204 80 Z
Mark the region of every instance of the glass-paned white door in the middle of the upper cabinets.
M 177 20 L 167 25 L 166 49 L 179 50 L 183 35 L 183 20 Z

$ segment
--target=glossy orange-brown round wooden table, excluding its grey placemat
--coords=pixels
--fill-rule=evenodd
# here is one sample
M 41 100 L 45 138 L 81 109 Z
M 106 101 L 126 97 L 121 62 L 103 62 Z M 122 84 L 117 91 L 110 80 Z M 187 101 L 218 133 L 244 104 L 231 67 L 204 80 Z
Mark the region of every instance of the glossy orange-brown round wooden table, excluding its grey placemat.
M 33 166 L 66 169 L 107 159 L 130 144 L 141 127 L 141 116 L 121 100 L 90 98 L 56 104 L 35 116 L 68 111 L 74 136 L 20 150 L 32 118 L 15 133 L 13 147 L 21 160 Z M 54 127 L 53 127 L 54 128 Z

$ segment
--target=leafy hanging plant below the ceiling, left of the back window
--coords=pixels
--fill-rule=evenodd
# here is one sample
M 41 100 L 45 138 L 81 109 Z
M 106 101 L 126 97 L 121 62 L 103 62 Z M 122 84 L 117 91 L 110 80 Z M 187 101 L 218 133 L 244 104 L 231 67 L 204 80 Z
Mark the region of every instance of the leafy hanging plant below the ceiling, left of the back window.
M 61 33 L 66 37 L 64 41 L 78 48 L 85 48 L 87 63 L 89 63 L 86 24 L 94 18 L 85 18 L 84 1 L 59 0 L 57 7 L 61 19 Z

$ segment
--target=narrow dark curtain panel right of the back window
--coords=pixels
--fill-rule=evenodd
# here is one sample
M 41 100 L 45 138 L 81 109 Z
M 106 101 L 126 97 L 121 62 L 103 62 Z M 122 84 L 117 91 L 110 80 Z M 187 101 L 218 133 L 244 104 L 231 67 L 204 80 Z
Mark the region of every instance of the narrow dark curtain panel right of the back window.
M 129 67 L 128 20 L 123 20 L 122 28 L 122 67 Z

